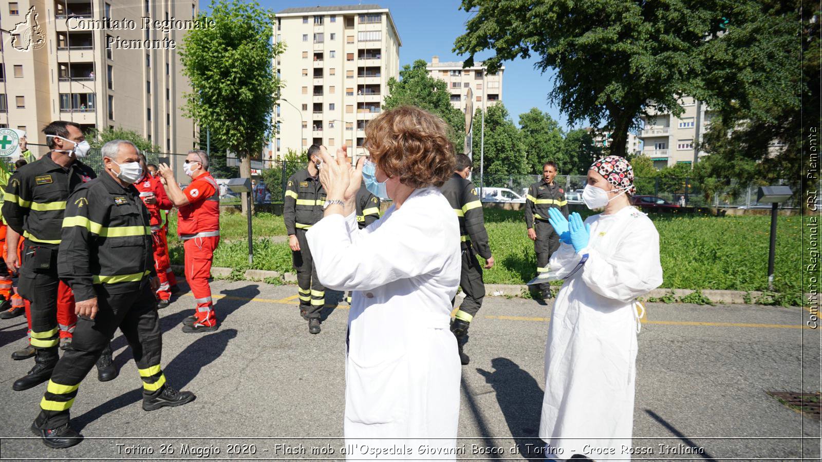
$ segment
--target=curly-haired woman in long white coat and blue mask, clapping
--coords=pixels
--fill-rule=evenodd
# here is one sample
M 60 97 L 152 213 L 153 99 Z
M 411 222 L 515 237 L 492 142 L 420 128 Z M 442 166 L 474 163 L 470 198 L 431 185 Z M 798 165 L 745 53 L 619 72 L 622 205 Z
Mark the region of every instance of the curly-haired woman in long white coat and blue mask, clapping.
M 455 459 L 460 363 L 449 330 L 461 266 L 459 223 L 439 187 L 454 172 L 446 124 L 399 107 L 366 126 L 369 159 L 352 169 L 321 149 L 323 219 L 307 232 L 317 275 L 353 290 L 345 367 L 349 459 Z M 363 162 L 364 160 L 364 162 Z M 354 201 L 394 202 L 358 229 Z

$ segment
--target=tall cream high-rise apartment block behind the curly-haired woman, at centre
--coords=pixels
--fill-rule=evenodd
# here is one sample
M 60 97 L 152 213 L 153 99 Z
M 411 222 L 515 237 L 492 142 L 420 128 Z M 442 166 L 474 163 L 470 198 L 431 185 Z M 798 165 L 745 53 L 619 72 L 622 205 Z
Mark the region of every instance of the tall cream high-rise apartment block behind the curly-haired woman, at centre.
M 276 14 L 275 62 L 284 84 L 275 104 L 275 159 L 312 144 L 366 155 L 365 124 L 381 112 L 388 80 L 399 76 L 399 39 L 379 5 L 287 8 Z

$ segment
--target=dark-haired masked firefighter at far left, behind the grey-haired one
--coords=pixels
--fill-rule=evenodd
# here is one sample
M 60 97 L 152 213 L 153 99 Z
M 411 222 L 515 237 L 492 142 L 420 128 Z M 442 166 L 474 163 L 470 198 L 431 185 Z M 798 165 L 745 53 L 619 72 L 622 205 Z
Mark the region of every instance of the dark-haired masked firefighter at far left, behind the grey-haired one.
M 68 196 L 96 176 L 94 170 L 78 160 L 89 150 L 79 125 L 55 121 L 43 132 L 50 151 L 9 178 L 2 205 L 7 224 L 25 237 L 19 292 L 31 304 L 30 341 L 36 350 L 35 367 L 12 385 L 18 391 L 47 381 L 57 364 L 57 260 L 63 214 Z M 117 376 L 110 349 L 99 366 L 101 381 Z

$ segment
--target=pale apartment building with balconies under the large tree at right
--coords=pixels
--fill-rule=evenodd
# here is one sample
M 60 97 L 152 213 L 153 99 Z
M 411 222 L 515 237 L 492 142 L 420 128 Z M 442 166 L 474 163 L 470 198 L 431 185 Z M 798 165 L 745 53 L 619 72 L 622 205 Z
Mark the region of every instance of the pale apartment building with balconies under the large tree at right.
M 692 164 L 695 159 L 707 155 L 703 150 L 696 152 L 695 146 L 710 126 L 710 108 L 690 96 L 683 96 L 681 104 L 685 112 L 678 118 L 672 113 L 661 112 L 642 118 L 644 127 L 639 136 L 643 143 L 642 154 L 650 157 L 657 169 Z

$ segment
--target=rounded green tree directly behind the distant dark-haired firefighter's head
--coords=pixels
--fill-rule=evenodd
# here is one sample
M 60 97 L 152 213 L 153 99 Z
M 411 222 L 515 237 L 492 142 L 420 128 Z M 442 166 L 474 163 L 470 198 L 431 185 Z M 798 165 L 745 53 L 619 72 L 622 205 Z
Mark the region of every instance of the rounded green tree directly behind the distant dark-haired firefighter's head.
M 548 113 L 531 108 L 529 112 L 520 114 L 520 132 L 530 173 L 541 174 L 547 160 L 553 160 L 558 165 L 567 164 L 567 159 L 563 157 L 562 130 Z

